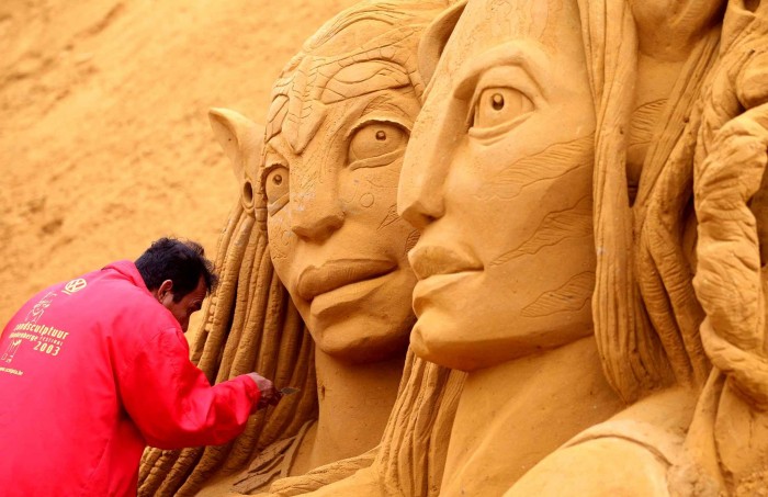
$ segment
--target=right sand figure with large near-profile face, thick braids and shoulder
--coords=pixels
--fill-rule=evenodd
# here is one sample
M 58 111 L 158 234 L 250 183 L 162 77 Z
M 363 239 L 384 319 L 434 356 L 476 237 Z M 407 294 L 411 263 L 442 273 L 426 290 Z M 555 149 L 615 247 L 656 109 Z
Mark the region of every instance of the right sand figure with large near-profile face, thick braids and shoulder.
M 766 47 L 760 1 L 442 15 L 398 193 L 421 359 L 373 465 L 312 495 L 765 489 Z

